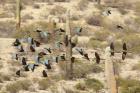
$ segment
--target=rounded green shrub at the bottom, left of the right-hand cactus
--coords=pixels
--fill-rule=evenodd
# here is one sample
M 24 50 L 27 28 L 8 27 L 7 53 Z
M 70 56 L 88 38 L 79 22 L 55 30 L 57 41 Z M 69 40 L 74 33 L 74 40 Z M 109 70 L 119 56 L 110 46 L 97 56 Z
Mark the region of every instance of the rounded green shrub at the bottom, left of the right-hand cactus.
M 85 80 L 85 84 L 87 88 L 93 89 L 96 92 L 104 88 L 104 85 L 99 80 L 94 78 Z

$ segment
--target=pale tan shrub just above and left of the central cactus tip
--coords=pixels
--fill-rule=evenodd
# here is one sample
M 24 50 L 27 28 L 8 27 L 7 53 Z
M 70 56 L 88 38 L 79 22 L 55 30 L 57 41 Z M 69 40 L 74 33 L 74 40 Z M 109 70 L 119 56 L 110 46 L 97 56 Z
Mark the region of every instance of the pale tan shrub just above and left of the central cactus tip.
M 66 8 L 56 5 L 50 10 L 50 14 L 52 15 L 62 15 L 66 12 Z

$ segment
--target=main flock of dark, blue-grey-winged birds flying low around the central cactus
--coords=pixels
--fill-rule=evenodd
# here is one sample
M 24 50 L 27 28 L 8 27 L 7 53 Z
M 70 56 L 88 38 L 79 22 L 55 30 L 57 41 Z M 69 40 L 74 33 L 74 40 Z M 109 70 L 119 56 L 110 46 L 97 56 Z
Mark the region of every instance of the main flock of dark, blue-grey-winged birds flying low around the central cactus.
M 59 33 L 65 33 L 65 30 L 63 30 L 61 28 L 57 31 L 59 31 Z M 51 33 L 43 32 L 43 31 L 40 31 L 40 30 L 37 30 L 36 32 L 38 32 L 40 34 L 40 38 L 43 38 L 44 36 L 48 36 L 48 34 L 49 35 L 51 34 Z M 80 35 L 81 32 L 82 32 L 82 28 L 80 28 L 78 30 L 76 35 Z M 43 33 L 44 36 L 42 35 L 42 33 Z M 68 42 L 70 42 L 70 41 L 65 36 L 64 41 L 60 42 L 60 44 L 67 47 Z M 20 54 L 28 55 L 27 50 L 25 49 L 24 43 L 26 43 L 28 45 L 28 49 L 34 55 L 34 60 L 32 60 L 32 62 L 29 62 L 30 60 L 27 57 L 20 55 Z M 71 44 L 72 48 L 74 48 L 76 46 L 76 43 L 71 42 L 70 44 Z M 36 48 L 40 47 L 40 45 L 41 45 L 40 41 L 37 41 L 32 37 L 16 39 L 13 42 L 13 46 L 18 50 L 18 52 L 13 55 L 13 58 L 17 61 L 21 61 L 21 64 L 23 65 L 23 68 L 24 68 L 24 71 L 30 71 L 31 70 L 32 72 L 34 72 L 35 68 L 37 68 L 40 64 L 43 64 L 46 68 L 42 71 L 42 76 L 43 77 L 48 77 L 47 70 L 52 69 L 52 67 L 51 67 L 52 62 L 58 63 L 59 61 L 66 61 L 66 54 L 63 53 L 61 55 L 54 55 L 54 53 L 55 53 L 54 50 L 55 49 L 52 49 L 52 48 L 44 48 L 42 51 L 37 51 Z M 126 43 L 123 44 L 122 48 L 123 48 L 122 60 L 125 60 L 125 57 L 127 55 Z M 89 55 L 88 55 L 88 53 L 85 52 L 84 49 L 75 48 L 75 50 L 81 56 L 83 56 L 86 60 L 90 61 Z M 114 47 L 113 42 L 110 44 L 110 50 L 111 50 L 110 51 L 110 56 L 114 56 L 115 55 L 115 47 Z M 48 55 L 49 55 L 49 57 L 48 57 Z M 75 57 L 72 57 L 71 61 L 74 62 L 74 60 L 75 60 Z M 96 63 L 99 64 L 101 60 L 102 60 L 102 58 L 100 57 L 100 55 L 97 52 L 95 52 Z M 16 75 L 21 76 L 21 71 L 22 71 L 21 69 L 18 70 L 16 72 Z

